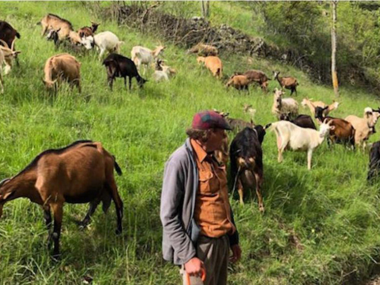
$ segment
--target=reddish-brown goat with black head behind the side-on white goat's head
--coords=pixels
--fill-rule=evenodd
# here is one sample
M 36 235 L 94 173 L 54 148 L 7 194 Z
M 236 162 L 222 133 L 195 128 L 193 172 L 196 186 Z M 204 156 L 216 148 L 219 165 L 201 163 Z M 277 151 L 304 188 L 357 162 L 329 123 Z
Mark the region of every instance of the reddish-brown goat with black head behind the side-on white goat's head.
M 326 107 L 316 107 L 315 108 L 315 118 L 318 122 L 330 122 L 331 121 L 331 130 L 330 135 L 327 140 L 328 145 L 330 146 L 330 141 L 333 143 L 343 143 L 350 144 L 352 149 L 355 149 L 355 129 L 351 123 L 343 120 L 341 118 L 334 118 L 330 116 L 323 116 L 323 111 Z

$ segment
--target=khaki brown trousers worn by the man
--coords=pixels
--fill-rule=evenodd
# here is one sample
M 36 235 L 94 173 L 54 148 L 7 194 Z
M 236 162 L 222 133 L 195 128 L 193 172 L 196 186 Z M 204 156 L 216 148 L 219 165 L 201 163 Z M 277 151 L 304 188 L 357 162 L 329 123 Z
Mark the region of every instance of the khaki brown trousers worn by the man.
M 208 238 L 199 236 L 196 244 L 196 257 L 203 261 L 206 268 L 206 281 L 200 277 L 190 277 L 190 285 L 227 285 L 227 268 L 229 259 L 228 236 Z M 183 285 L 189 285 L 184 266 L 180 270 Z

